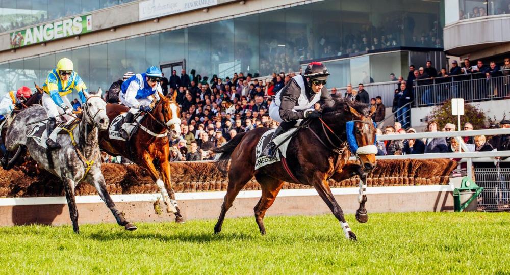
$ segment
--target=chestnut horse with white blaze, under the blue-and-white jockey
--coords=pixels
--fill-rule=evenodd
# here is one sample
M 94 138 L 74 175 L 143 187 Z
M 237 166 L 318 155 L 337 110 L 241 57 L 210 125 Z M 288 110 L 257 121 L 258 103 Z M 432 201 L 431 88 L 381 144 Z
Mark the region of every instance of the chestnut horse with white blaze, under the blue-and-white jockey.
M 129 141 L 111 139 L 108 131 L 99 134 L 101 150 L 112 156 L 122 156 L 144 167 L 149 176 L 156 182 L 167 212 L 175 214 L 175 222 L 182 223 L 181 215 L 175 193 L 170 182 L 170 153 L 169 132 L 172 137 L 181 134 L 181 119 L 179 118 L 179 104 L 175 101 L 177 92 L 171 98 L 161 93 L 160 100 L 151 112 L 145 113 L 138 128 L 134 129 Z M 129 110 L 124 105 L 106 104 L 106 113 L 110 123 Z M 108 126 L 109 128 L 111 125 Z M 168 191 L 170 190 L 170 195 Z

